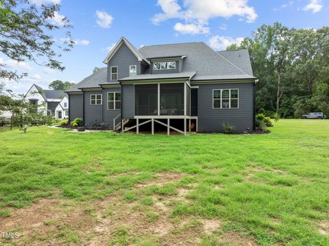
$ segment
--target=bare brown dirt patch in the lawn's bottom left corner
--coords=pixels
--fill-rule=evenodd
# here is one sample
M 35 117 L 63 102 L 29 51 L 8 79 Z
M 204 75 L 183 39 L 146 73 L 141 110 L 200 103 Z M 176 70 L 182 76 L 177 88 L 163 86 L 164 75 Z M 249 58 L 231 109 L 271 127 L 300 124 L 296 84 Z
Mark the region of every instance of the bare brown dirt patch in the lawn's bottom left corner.
M 19 238 L 11 239 L 12 243 L 19 245 L 23 242 L 56 245 L 63 241 L 84 238 L 84 230 L 81 228 L 92 225 L 95 221 L 84 212 L 83 207 L 68 204 L 58 198 L 40 199 L 36 204 L 14 210 L 10 217 L 0 219 L 1 230 L 19 232 Z M 72 238 L 66 238 L 65 233 L 71 234 Z

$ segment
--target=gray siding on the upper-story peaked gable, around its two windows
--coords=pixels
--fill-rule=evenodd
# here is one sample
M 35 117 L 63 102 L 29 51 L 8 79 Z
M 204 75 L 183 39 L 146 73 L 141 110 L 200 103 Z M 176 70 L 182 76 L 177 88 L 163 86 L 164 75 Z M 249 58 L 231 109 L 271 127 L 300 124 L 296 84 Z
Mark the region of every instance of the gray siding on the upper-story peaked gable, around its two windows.
M 134 53 L 123 43 L 108 62 L 108 82 L 111 81 L 111 66 L 118 67 L 118 77 L 122 79 L 123 77 L 129 77 L 130 65 L 137 65 L 137 74 L 141 74 L 141 64 Z

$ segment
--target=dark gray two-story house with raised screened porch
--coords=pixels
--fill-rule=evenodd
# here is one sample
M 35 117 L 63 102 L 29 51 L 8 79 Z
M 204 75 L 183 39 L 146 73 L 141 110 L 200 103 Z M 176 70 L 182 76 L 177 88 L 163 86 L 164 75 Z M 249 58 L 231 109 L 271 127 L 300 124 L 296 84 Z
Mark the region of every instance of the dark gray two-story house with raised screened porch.
M 122 37 L 103 63 L 66 91 L 70 121 L 152 134 L 222 132 L 223 122 L 254 130 L 257 78 L 247 50 L 214 51 L 204 42 L 136 49 Z

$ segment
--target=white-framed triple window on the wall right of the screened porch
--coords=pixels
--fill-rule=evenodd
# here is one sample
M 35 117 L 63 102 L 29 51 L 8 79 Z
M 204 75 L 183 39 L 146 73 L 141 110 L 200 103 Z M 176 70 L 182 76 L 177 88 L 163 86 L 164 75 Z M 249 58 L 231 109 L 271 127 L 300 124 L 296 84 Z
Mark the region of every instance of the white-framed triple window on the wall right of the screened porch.
M 212 108 L 239 108 L 239 89 L 212 90 Z

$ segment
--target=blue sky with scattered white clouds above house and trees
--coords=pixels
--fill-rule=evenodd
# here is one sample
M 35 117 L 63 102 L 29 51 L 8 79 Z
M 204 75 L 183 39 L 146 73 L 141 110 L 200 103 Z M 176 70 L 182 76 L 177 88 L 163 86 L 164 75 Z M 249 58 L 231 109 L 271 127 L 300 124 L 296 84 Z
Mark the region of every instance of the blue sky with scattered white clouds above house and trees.
M 125 36 L 139 48 L 175 42 L 202 41 L 213 49 L 251 36 L 257 27 L 279 21 L 287 27 L 319 28 L 329 23 L 328 0 L 30 0 L 60 3 L 53 21 L 66 16 L 73 24 L 76 41 L 60 60 L 65 71 L 51 71 L 33 63 L 17 64 L 0 53 L 0 62 L 27 72 L 21 82 L 6 82 L 6 88 L 25 93 L 32 84 L 47 88 L 55 80 L 80 82 L 102 63 L 111 47 Z M 63 32 L 53 34 L 56 40 Z

